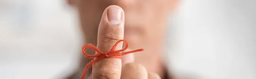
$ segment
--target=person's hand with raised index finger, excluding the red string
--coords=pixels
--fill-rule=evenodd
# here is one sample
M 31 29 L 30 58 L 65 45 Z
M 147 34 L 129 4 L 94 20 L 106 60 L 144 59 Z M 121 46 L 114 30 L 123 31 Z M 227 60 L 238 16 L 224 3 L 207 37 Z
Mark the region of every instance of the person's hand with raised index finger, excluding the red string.
M 98 29 L 97 48 L 108 52 L 119 40 L 124 39 L 124 11 L 119 6 L 108 6 L 102 14 Z M 122 43 L 116 50 L 122 49 Z M 97 54 L 97 52 L 96 52 Z M 133 63 L 134 55 L 122 56 L 122 60 L 105 57 L 94 63 L 89 79 L 160 79 L 156 73 L 148 73 L 143 65 Z

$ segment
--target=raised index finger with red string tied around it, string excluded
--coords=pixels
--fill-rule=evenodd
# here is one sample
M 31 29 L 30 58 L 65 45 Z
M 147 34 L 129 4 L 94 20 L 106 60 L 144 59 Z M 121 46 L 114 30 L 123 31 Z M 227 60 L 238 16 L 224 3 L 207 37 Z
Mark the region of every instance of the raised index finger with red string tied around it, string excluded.
M 124 12 L 119 6 L 108 6 L 99 24 L 97 48 L 106 53 L 123 38 Z M 116 46 L 116 50 L 120 49 L 122 49 L 122 42 Z M 121 59 L 105 57 L 93 65 L 92 77 L 93 79 L 120 79 L 121 70 Z

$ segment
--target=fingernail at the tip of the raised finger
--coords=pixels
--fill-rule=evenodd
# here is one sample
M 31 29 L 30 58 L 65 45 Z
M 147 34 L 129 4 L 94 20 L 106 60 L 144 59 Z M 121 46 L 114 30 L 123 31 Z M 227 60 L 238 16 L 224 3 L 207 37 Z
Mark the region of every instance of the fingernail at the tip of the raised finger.
M 109 8 L 108 9 L 108 21 L 113 25 L 121 23 L 122 10 L 119 8 Z

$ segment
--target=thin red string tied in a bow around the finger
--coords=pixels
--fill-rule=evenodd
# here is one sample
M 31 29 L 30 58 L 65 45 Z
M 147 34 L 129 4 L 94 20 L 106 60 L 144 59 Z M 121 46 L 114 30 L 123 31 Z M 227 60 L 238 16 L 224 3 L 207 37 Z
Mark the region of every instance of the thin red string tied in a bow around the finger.
M 116 49 L 116 46 L 118 43 L 120 42 L 125 42 L 126 45 L 125 45 L 125 48 L 124 49 L 121 49 L 121 50 L 115 50 Z M 99 54 L 94 54 L 94 55 L 88 55 L 85 53 L 86 49 L 88 48 L 91 48 L 93 49 L 94 51 L 98 52 Z M 137 51 L 144 51 L 143 49 L 137 49 L 137 50 L 134 50 L 134 51 L 127 51 L 127 52 L 122 52 L 122 51 L 125 51 L 126 49 L 128 48 L 128 42 L 127 40 L 119 40 L 116 42 L 115 45 L 113 45 L 113 47 L 111 48 L 111 50 L 107 53 L 103 53 L 102 51 L 99 51 L 98 48 L 96 48 L 94 45 L 92 44 L 84 44 L 83 47 L 82 47 L 82 52 L 84 54 L 84 56 L 86 57 L 96 57 L 96 59 L 92 60 L 91 62 L 89 62 L 85 68 L 84 68 L 84 72 L 83 72 L 83 75 L 81 76 L 81 79 L 84 79 L 87 71 L 93 66 L 93 64 L 95 62 L 98 62 L 100 61 L 101 59 L 103 59 L 104 57 L 115 57 L 115 58 L 119 58 L 119 59 L 122 59 L 122 55 L 126 55 L 126 54 L 130 54 L 130 53 L 134 53 L 134 52 L 137 52 Z M 119 52 L 122 52 L 122 53 L 119 53 Z

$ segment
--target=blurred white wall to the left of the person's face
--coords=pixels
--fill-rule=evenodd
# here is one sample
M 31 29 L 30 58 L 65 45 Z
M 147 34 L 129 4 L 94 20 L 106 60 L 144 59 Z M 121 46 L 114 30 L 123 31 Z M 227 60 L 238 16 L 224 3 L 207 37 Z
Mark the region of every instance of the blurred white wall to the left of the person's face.
M 0 79 L 51 79 L 78 65 L 78 19 L 64 0 L 0 0 Z

